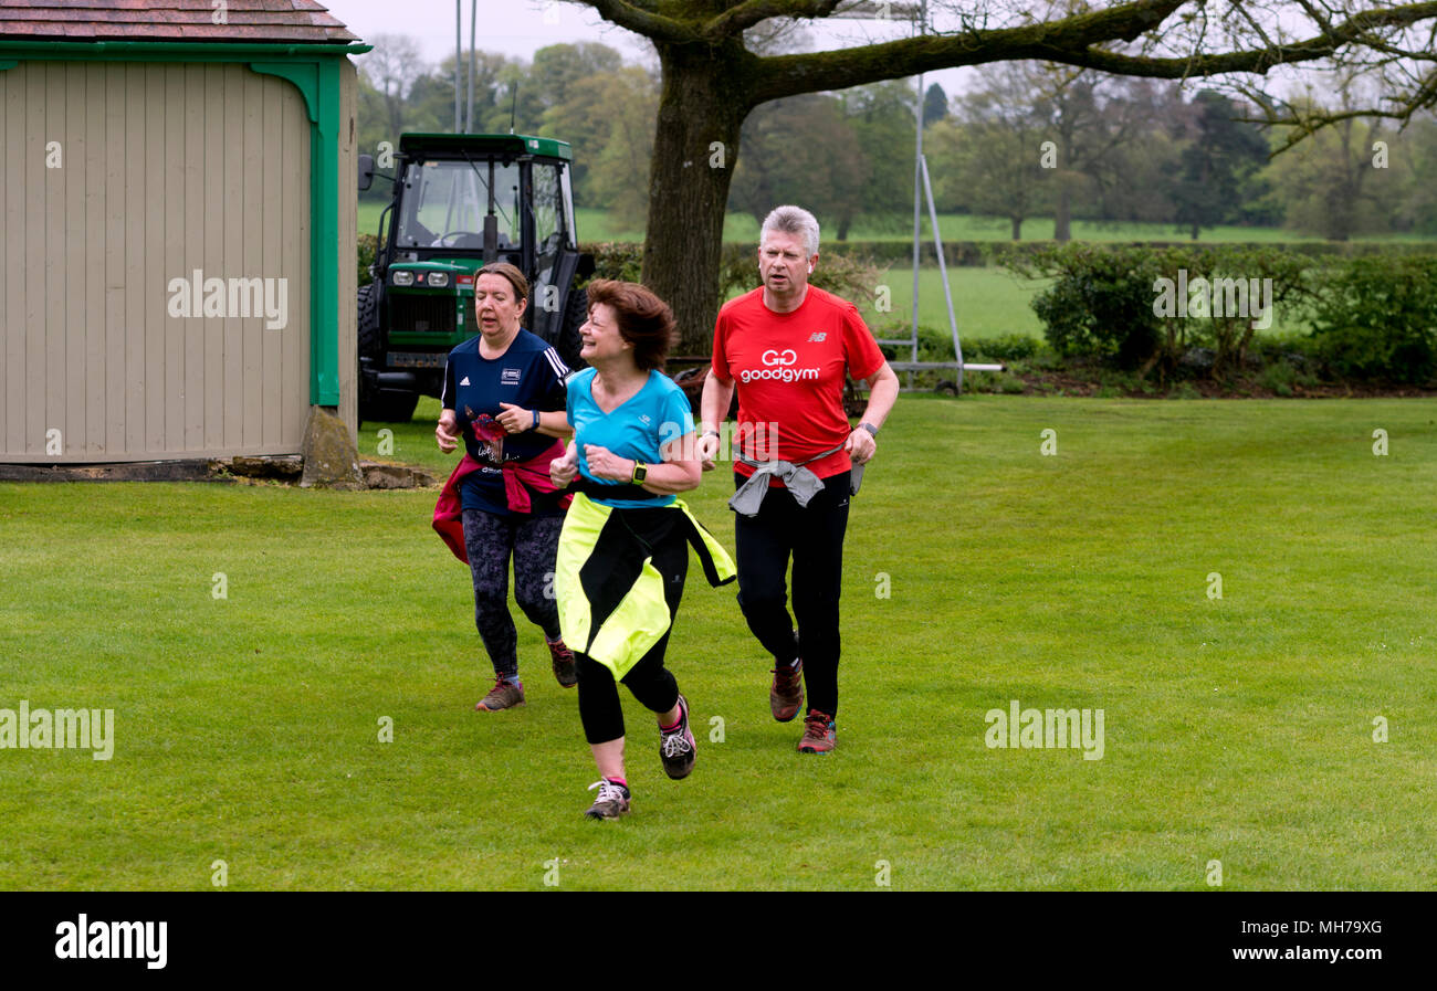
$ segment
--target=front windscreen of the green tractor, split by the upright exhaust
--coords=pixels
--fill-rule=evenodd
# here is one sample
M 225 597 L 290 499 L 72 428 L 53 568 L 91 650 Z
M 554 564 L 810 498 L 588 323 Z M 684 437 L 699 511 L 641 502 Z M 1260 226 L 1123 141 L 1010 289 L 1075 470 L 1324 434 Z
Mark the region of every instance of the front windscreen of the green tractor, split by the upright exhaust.
M 483 248 L 489 208 L 489 162 L 410 162 L 404 174 L 404 207 L 395 243 L 407 247 Z M 499 250 L 520 243 L 519 165 L 494 164 L 494 217 Z

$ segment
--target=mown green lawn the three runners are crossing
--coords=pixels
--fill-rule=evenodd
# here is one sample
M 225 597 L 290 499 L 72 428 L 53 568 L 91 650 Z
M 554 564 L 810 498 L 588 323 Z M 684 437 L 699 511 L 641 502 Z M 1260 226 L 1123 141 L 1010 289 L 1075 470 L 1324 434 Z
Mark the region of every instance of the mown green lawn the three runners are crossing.
M 394 454 L 447 467 L 421 415 Z M 691 574 L 698 766 L 668 781 L 627 698 L 618 823 L 582 819 L 536 629 L 527 707 L 473 711 L 433 491 L 0 484 L 0 708 L 115 711 L 109 761 L 0 750 L 0 888 L 210 889 L 223 860 L 231 889 L 874 889 L 879 862 L 894 889 L 1206 889 L 1220 860 L 1229 889 L 1431 889 L 1434 422 L 904 396 L 851 517 L 838 751 L 795 753 L 733 586 Z M 731 546 L 727 488 L 691 503 Z M 1102 709 L 1102 758 L 989 748 L 1015 699 Z

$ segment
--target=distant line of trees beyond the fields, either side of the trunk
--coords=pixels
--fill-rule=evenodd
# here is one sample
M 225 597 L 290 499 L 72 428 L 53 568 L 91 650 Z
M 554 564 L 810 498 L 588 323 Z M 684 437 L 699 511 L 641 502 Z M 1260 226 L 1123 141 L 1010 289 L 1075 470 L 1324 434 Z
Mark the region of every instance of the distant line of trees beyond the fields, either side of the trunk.
M 451 131 L 454 59 L 427 66 L 402 36 L 374 43 L 359 59 L 361 144 Z M 568 141 L 576 204 L 642 225 L 660 98 L 652 69 L 589 42 L 539 49 L 532 62 L 491 52 L 474 62 L 474 131 L 513 124 Z M 461 103 L 467 69 L 466 53 Z M 859 218 L 905 225 L 915 102 L 911 83 L 891 80 L 760 105 L 743 125 L 729 208 L 762 218 L 777 203 L 802 203 L 838 240 Z M 1328 240 L 1437 234 L 1431 113 L 1404 131 L 1345 119 L 1270 158 L 1289 135 L 1243 122 L 1256 113 L 1221 93 L 1066 66 L 989 66 L 980 88 L 953 99 L 928 86 L 923 106 L 938 210 L 1002 217 L 1013 240 L 1068 240 L 1073 220 L 1171 224 L 1193 240 L 1219 224 Z

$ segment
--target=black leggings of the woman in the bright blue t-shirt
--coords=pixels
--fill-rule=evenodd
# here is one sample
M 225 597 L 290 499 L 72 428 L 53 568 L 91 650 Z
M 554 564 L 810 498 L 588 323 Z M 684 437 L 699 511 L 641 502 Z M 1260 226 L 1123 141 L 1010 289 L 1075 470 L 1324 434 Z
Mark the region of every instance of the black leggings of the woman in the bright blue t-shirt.
M 638 514 L 674 510 L 614 511 Z M 688 576 L 688 540 L 680 527 L 671 527 L 668 536 L 654 546 L 652 553 L 652 564 L 664 576 L 664 600 L 668 602 L 668 622 L 673 632 L 678 602 L 684 597 L 684 579 Z M 667 712 L 678 701 L 678 682 L 664 666 L 667 648 L 668 633 L 664 633 L 662 639 L 619 679 L 651 712 Z M 619 705 L 614 672 L 581 651 L 573 652 L 573 659 L 579 674 L 579 721 L 583 722 L 583 738 L 591 744 L 618 740 L 624 735 L 624 708 Z

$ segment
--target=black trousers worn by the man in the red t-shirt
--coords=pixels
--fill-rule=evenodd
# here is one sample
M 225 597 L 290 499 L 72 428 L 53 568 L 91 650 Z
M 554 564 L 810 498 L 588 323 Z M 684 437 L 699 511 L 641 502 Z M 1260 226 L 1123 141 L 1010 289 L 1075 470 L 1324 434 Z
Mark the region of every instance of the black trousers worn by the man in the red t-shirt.
M 736 484 L 743 475 L 734 473 Z M 800 507 L 786 488 L 770 487 L 759 516 L 734 516 L 739 608 L 776 664 L 803 658 L 808 707 L 838 715 L 838 599 L 844 592 L 844 534 L 849 473 L 823 480 L 823 491 Z M 789 619 L 789 556 L 793 557 L 795 638 Z

